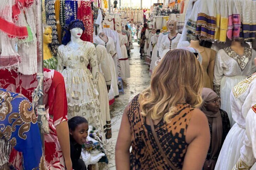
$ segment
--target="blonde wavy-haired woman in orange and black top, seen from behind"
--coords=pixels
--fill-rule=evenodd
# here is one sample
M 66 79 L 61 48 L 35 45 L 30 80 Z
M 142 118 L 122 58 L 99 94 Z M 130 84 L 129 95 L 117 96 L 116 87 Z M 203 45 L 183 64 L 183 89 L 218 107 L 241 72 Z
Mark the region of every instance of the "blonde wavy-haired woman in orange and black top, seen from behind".
M 210 145 L 208 120 L 197 109 L 202 88 L 203 68 L 195 55 L 169 51 L 155 68 L 150 87 L 124 110 L 117 170 L 202 169 Z

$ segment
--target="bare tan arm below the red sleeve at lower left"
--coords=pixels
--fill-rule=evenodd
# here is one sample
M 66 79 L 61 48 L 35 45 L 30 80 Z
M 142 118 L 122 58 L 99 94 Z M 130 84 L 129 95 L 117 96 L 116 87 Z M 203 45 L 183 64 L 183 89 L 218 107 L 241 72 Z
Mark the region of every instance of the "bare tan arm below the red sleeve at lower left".
M 56 132 L 59 139 L 59 144 L 65 159 L 67 170 L 72 169 L 72 161 L 70 158 L 70 144 L 69 144 L 69 126 L 68 121 L 61 122 L 56 126 Z

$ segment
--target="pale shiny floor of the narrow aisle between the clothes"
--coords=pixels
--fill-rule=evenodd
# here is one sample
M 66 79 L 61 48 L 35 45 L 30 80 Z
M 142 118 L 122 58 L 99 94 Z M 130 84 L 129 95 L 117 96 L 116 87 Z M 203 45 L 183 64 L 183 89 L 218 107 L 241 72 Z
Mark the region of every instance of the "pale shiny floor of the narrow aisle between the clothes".
M 131 50 L 131 58 L 129 59 L 131 77 L 124 79 L 124 82 L 126 83 L 126 85 L 124 85 L 125 94 L 120 94 L 119 97 L 116 98 L 115 103 L 110 106 L 112 138 L 107 140 L 107 156 L 109 158 L 109 164 L 104 169 L 116 169 L 115 146 L 124 108 L 136 94 L 139 94 L 146 89 L 150 83 L 149 66 L 144 63 L 144 60 L 140 59 L 138 43 L 134 42 L 133 46 L 134 49 Z

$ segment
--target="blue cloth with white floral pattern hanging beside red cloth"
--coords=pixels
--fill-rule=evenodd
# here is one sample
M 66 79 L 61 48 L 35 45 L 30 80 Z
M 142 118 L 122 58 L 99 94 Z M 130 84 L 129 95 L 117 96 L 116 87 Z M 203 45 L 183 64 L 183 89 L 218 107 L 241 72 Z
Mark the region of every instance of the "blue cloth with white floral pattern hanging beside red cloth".
M 66 0 L 65 2 L 65 24 L 69 24 L 72 20 L 76 19 L 76 6 L 77 2 Z

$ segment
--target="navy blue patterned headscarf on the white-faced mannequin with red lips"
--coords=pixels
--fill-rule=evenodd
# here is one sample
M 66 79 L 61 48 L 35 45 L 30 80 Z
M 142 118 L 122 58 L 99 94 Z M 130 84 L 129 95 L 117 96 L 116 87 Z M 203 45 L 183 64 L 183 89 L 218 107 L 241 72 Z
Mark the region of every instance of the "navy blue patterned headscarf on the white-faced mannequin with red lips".
M 81 28 L 85 30 L 84 23 L 81 20 L 72 20 L 69 24 L 66 24 L 63 29 L 62 44 L 67 45 L 71 39 L 70 30 L 73 28 Z

